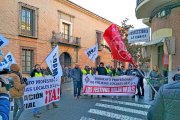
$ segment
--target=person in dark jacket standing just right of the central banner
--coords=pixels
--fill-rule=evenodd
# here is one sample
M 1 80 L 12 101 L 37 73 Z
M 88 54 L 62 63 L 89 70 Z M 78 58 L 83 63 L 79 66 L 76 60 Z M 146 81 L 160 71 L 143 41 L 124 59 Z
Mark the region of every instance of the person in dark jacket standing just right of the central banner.
M 162 75 L 159 71 L 159 68 L 156 65 L 153 66 L 153 70 L 150 72 L 149 77 L 151 79 L 151 84 L 153 85 L 154 89 L 158 91 L 160 87 L 160 79 L 162 78 Z M 152 100 L 154 100 L 154 96 L 155 96 L 155 91 L 152 89 Z

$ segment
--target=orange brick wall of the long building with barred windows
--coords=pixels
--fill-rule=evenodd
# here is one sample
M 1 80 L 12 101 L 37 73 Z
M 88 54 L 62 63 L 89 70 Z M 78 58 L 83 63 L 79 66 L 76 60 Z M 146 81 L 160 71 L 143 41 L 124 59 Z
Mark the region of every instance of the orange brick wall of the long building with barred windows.
M 19 21 L 19 3 L 38 8 L 38 38 L 21 37 L 18 30 Z M 104 32 L 109 26 L 108 23 L 95 19 L 75 8 L 61 3 L 57 0 L 4 0 L 0 4 L 0 34 L 10 40 L 10 44 L 3 48 L 4 54 L 11 51 L 18 64 L 21 65 L 21 47 L 34 48 L 35 63 L 42 63 L 48 53 L 51 51 L 49 40 L 52 38 L 52 31 L 60 32 L 59 12 L 63 11 L 74 16 L 72 36 L 81 38 L 81 48 L 78 50 L 78 62 L 81 66 L 84 64 L 95 64 L 91 62 L 84 54 L 85 50 L 96 43 L 96 30 Z M 73 47 L 60 45 L 59 54 L 68 52 L 73 62 L 76 62 L 76 51 Z M 111 62 L 111 55 L 107 50 L 99 52 L 101 60 L 105 63 Z M 112 63 L 111 63 L 112 64 Z M 43 63 L 45 66 L 45 63 Z

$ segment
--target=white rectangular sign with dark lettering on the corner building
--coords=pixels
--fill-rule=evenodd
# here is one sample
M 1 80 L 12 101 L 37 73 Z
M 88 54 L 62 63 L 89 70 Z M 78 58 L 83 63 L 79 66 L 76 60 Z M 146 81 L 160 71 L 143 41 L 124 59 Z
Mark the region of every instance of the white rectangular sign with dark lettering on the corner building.
M 128 32 L 128 43 L 149 42 L 149 40 L 150 40 L 149 28 L 130 30 Z

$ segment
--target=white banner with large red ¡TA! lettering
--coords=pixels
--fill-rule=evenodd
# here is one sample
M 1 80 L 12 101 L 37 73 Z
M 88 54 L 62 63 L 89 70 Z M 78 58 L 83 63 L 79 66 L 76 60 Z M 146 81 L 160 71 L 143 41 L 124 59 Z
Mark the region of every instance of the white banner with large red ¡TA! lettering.
M 55 80 L 53 76 L 33 77 L 28 78 L 28 84 L 24 92 L 26 109 L 42 107 L 60 100 L 60 79 Z

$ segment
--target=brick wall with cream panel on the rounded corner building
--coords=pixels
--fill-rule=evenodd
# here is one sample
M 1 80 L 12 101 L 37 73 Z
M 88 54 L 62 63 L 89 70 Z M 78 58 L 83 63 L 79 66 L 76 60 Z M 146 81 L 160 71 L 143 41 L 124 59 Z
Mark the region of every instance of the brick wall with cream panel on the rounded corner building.
M 151 23 L 152 33 L 155 33 L 159 30 L 157 34 L 152 35 L 152 39 L 158 37 L 175 37 L 176 41 L 176 54 L 172 55 L 172 70 L 176 69 L 177 66 L 180 66 L 180 7 L 174 8 L 171 10 L 171 14 L 165 18 L 153 18 Z M 169 30 L 167 30 L 169 29 Z

